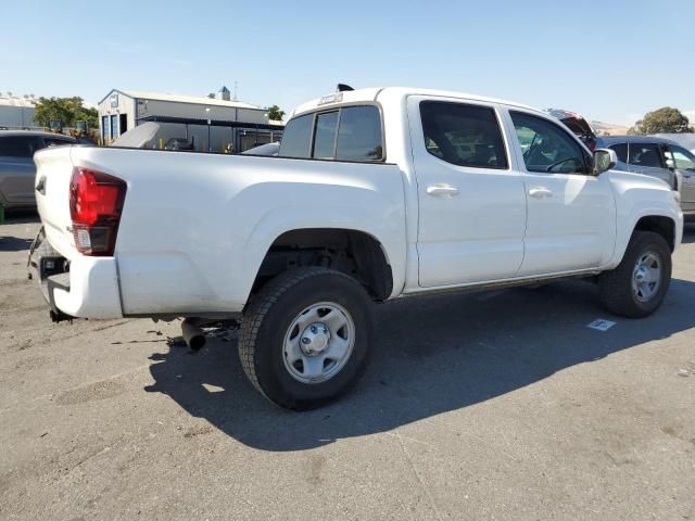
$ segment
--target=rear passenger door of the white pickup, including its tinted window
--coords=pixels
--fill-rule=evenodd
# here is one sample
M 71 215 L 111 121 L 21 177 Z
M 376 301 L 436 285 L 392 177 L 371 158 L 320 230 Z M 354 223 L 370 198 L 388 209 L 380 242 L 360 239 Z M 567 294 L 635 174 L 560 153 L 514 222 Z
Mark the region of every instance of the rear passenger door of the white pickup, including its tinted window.
M 417 178 L 419 284 L 516 276 L 526 198 L 493 104 L 408 98 Z

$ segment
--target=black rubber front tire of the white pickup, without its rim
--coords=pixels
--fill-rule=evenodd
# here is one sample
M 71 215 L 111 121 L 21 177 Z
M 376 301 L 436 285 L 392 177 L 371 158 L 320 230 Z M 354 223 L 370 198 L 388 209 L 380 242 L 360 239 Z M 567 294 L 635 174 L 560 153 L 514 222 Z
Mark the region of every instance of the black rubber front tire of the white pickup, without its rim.
M 660 281 L 650 298 L 642 301 L 633 291 L 632 280 L 637 262 L 649 252 L 658 256 Z M 641 318 L 652 315 L 661 305 L 670 282 L 671 250 L 664 237 L 653 231 L 635 231 L 620 264 L 598 276 L 598 295 L 609 312 Z

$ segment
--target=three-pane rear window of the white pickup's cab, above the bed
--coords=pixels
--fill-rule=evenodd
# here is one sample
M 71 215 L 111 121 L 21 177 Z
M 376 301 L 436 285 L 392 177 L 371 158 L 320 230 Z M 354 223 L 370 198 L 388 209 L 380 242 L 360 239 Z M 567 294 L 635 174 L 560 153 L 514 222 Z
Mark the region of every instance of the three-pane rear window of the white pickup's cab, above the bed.
M 280 157 L 359 163 L 382 162 L 381 113 L 376 105 L 345 105 L 303 114 L 288 122 Z

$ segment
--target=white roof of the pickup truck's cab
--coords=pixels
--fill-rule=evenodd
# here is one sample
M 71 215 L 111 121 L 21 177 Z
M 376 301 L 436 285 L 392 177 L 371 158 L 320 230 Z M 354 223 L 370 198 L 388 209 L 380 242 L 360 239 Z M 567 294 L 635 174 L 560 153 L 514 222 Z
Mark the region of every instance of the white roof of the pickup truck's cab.
M 317 109 L 337 106 L 345 103 L 356 102 L 374 102 L 386 97 L 406 98 L 408 96 L 431 96 L 437 98 L 453 98 L 458 100 L 481 101 L 486 103 L 497 103 L 502 105 L 516 106 L 529 111 L 543 114 L 543 112 L 532 106 L 523 105 L 514 101 L 500 100 L 496 98 L 488 98 L 484 96 L 469 94 L 465 92 L 455 92 L 448 90 L 418 89 L 413 87 L 371 87 L 366 89 L 348 90 L 342 92 L 332 92 L 321 98 L 307 101 L 299 105 L 293 112 L 292 117 L 299 114 L 315 111 Z

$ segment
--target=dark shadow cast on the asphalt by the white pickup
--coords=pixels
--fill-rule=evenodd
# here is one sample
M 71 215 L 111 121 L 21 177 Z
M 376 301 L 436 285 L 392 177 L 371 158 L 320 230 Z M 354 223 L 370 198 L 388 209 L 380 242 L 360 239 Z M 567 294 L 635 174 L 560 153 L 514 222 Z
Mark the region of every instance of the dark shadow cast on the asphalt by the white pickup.
M 695 283 L 673 280 L 664 306 L 642 320 L 610 318 L 596 289 L 565 281 L 539 290 L 405 298 L 378 306 L 375 356 L 341 401 L 309 412 L 271 406 L 247 381 L 236 340 L 198 354 L 172 347 L 153 355 L 151 392 L 165 393 L 195 417 L 265 450 L 301 450 L 389 431 L 460 409 L 621 350 L 695 327 Z

